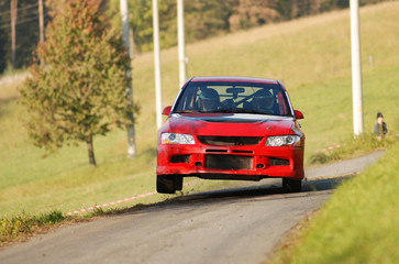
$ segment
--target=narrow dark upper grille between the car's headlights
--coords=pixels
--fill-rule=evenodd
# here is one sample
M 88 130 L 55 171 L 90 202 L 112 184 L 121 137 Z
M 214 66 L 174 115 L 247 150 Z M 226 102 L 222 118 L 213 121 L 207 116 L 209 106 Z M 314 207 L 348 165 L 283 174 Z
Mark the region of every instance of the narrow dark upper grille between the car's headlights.
M 262 136 L 198 135 L 198 140 L 206 145 L 257 145 L 262 141 Z

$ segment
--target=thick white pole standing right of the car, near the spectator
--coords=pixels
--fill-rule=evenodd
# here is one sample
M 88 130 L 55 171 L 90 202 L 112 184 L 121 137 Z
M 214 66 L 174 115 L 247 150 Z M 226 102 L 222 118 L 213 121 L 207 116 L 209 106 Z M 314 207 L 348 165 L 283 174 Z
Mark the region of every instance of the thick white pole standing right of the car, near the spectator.
M 353 130 L 363 134 L 362 58 L 358 0 L 351 0 L 351 46 L 352 46 L 352 100 Z

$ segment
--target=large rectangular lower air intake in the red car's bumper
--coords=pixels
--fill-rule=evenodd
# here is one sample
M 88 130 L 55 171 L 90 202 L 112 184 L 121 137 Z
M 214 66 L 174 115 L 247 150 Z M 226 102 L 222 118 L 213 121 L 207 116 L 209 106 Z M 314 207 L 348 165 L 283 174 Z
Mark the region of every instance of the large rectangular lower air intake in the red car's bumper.
M 252 156 L 206 155 L 206 167 L 214 169 L 252 169 Z

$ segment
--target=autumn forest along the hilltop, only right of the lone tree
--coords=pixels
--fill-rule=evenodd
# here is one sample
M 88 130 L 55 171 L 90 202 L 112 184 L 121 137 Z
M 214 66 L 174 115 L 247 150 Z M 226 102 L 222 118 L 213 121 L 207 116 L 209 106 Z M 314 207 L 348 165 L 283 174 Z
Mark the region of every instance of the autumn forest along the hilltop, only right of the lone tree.
M 120 24 L 119 0 L 109 0 L 107 10 L 114 26 Z M 385 0 L 359 0 L 361 6 Z M 160 46 L 177 45 L 176 0 L 158 0 Z M 153 48 L 151 0 L 129 0 L 130 24 L 136 51 Z M 188 43 L 218 34 L 267 23 L 348 8 L 347 0 L 186 0 L 185 29 Z

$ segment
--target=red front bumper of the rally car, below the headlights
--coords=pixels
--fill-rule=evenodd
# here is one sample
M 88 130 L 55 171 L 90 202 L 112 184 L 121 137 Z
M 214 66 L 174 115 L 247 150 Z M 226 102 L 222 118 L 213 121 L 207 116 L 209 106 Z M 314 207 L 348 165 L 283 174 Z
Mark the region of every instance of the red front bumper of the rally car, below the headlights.
M 302 144 L 303 145 L 303 144 Z M 207 179 L 302 179 L 303 147 L 257 145 L 158 145 L 157 175 Z

